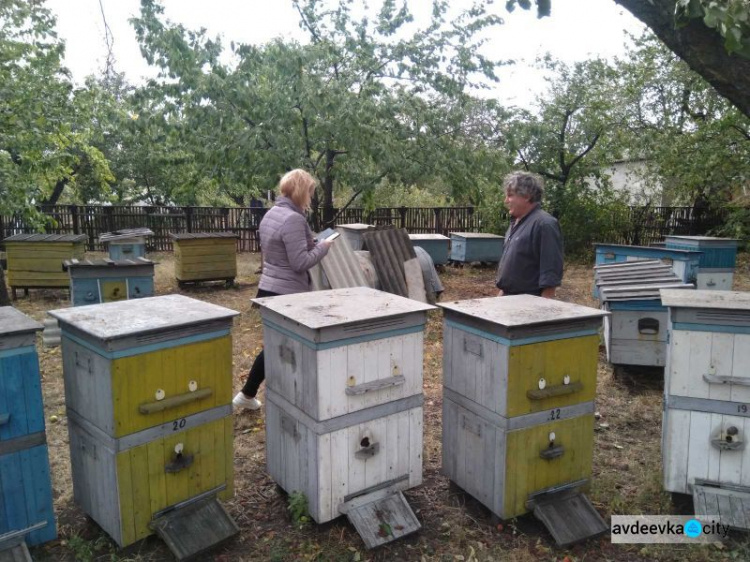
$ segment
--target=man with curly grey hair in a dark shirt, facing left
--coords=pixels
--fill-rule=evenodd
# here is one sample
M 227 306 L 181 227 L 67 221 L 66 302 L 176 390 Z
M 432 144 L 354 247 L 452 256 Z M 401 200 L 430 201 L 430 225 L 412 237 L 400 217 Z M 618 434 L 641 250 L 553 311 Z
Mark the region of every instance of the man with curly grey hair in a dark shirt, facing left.
M 562 282 L 563 242 L 557 219 L 539 207 L 542 179 L 514 172 L 505 177 L 503 187 L 511 219 L 497 268 L 499 295 L 554 298 Z

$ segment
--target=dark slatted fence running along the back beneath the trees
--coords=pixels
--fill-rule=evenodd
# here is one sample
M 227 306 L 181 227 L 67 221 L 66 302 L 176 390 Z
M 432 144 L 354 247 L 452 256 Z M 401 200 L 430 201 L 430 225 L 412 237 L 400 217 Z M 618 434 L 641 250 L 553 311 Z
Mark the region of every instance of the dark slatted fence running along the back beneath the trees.
M 98 238 L 105 232 L 146 227 L 154 232 L 148 240 L 150 251 L 171 251 L 170 233 L 234 232 L 238 236 L 238 251 L 257 252 L 258 225 L 266 212 L 258 207 L 103 205 L 48 205 L 39 210 L 49 218 L 46 232 L 86 234 L 86 249 L 90 251 L 104 249 Z M 415 234 L 448 236 L 450 232 L 483 231 L 482 210 L 474 207 L 381 207 L 371 211 L 348 208 L 335 210 L 334 216 L 335 224 L 392 224 Z M 319 229 L 323 224 L 322 210 L 310 212 L 308 219 L 314 229 Z M 723 220 L 721 213 L 696 211 L 693 207 L 630 207 L 626 215 L 613 218 L 605 230 L 566 236 L 565 246 L 566 251 L 575 253 L 586 251 L 593 242 L 648 245 L 663 240 L 667 234 L 706 234 Z M 507 224 L 507 216 L 500 217 L 500 224 Z M 0 244 L 13 234 L 35 231 L 18 216 L 0 216 Z

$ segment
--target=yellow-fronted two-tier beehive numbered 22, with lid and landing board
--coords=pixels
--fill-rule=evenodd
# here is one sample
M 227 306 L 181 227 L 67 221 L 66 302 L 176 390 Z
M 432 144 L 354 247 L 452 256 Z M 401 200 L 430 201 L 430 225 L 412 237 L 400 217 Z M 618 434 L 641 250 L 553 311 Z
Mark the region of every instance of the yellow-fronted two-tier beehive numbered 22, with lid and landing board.
M 443 472 L 502 519 L 534 511 L 561 545 L 606 531 L 580 491 L 608 313 L 529 295 L 440 306 Z

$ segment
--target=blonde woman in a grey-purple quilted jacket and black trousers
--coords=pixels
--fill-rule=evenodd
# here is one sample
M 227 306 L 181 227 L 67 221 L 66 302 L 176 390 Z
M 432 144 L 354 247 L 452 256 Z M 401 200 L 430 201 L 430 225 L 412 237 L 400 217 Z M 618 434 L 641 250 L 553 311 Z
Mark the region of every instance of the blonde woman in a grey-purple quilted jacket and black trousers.
M 307 270 L 328 253 L 331 242 L 317 242 L 307 224 L 305 211 L 315 193 L 315 179 L 304 170 L 292 170 L 279 182 L 281 197 L 260 221 L 263 273 L 257 298 L 303 293 L 310 290 Z M 257 410 L 263 404 L 255 396 L 266 378 L 263 351 L 250 368 L 245 386 L 232 400 L 238 408 Z

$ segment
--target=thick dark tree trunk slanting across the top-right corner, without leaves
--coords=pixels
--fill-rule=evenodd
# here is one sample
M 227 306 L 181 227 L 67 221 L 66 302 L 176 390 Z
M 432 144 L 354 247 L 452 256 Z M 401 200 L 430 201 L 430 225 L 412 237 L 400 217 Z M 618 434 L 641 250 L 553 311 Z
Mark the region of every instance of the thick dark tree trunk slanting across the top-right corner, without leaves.
M 615 2 L 649 26 L 690 68 L 750 117 L 750 59 L 727 53 L 724 38 L 700 19 L 678 27 L 675 0 Z

